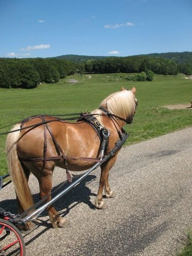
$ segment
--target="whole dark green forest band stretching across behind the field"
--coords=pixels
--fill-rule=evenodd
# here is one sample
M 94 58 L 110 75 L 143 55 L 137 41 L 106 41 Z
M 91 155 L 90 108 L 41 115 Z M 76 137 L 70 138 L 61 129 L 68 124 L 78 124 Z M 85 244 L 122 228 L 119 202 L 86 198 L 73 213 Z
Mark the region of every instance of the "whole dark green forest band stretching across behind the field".
M 130 57 L 106 57 L 74 62 L 59 58 L 0 58 L 0 87 L 32 89 L 37 84 L 57 82 L 67 75 L 94 73 L 192 74 L 192 63 L 176 63 L 173 60 L 146 55 Z

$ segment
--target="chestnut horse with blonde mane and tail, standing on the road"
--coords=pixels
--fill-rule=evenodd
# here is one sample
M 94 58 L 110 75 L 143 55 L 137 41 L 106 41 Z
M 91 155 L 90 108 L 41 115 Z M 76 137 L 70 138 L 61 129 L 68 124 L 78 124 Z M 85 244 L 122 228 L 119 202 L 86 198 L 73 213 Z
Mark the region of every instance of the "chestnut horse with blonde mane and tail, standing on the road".
M 105 127 L 109 133 L 108 147 L 105 154 L 109 154 L 115 146 L 115 142 L 122 134 L 123 125 L 133 120 L 137 107 L 137 99 L 135 98 L 136 89 L 126 90 L 121 88 L 120 91 L 110 94 L 101 101 L 100 107 L 105 108 L 111 113 L 113 118 L 110 118 L 103 112 L 102 108 L 96 109 L 91 114 Z M 77 122 L 60 122 L 52 120 L 53 117 L 46 116 L 45 122 L 39 125 L 42 120 L 37 116 L 29 118 L 22 125 L 17 123 L 7 136 L 6 140 L 6 155 L 9 168 L 9 174 L 13 181 L 16 198 L 18 203 L 19 214 L 33 206 L 33 198 L 28 185 L 29 175 L 32 173 L 38 180 L 40 189 L 40 198 L 47 196 L 46 202 L 51 200 L 52 176 L 55 166 L 63 168 L 62 159 L 55 157 L 50 161 L 46 161 L 45 154 L 45 135 L 46 135 L 46 157 L 58 156 L 58 148 L 55 143 L 60 145 L 60 151 L 66 156 L 78 156 L 77 159 L 69 158 L 64 168 L 72 171 L 82 171 L 93 166 L 94 162 L 89 161 L 89 158 L 97 158 L 99 156 L 100 139 L 93 127 L 83 121 Z M 47 123 L 46 123 L 47 122 Z M 37 125 L 38 124 L 38 125 Z M 54 136 L 49 132 L 45 132 L 46 126 Z M 56 141 L 56 142 L 55 142 Z M 105 209 L 106 203 L 103 201 L 102 194 L 107 198 L 113 198 L 115 192 L 109 185 L 109 170 L 113 167 L 119 150 L 101 164 L 101 175 L 98 193 L 95 199 L 95 207 Z M 87 158 L 83 161 L 81 158 Z M 27 159 L 35 158 L 37 161 L 27 161 Z M 38 160 L 39 159 L 39 160 Z M 66 227 L 69 225 L 69 218 L 58 215 L 56 209 L 51 205 L 47 207 L 49 212 L 50 222 L 54 228 Z M 28 221 L 25 223 L 24 229 L 34 228 L 34 223 Z

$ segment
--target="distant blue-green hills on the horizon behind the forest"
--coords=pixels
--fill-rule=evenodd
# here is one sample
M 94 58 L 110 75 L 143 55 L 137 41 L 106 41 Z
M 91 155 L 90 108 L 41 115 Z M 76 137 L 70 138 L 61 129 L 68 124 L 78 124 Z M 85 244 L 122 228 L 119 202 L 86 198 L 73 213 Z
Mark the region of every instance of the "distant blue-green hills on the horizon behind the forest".
M 160 57 L 173 60 L 177 63 L 192 63 L 192 52 L 167 52 L 167 53 L 151 53 L 151 54 L 141 54 L 137 56 L 149 56 L 149 57 Z M 86 60 L 96 60 L 96 59 L 104 59 L 111 58 L 112 56 L 86 56 L 86 55 L 61 55 L 55 58 L 57 59 L 65 59 L 74 62 L 81 62 Z M 129 56 L 131 57 L 131 56 Z M 121 57 L 116 57 L 121 58 Z

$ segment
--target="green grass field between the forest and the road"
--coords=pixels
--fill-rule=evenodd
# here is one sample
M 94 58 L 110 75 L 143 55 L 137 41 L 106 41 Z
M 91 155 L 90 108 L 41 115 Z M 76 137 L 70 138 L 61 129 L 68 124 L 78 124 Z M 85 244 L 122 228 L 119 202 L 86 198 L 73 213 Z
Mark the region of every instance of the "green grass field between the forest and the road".
M 192 110 L 168 110 L 167 104 L 192 100 L 192 80 L 183 75 L 155 75 L 152 82 L 128 82 L 126 74 L 75 75 L 54 84 L 41 84 L 36 89 L 0 89 L 0 126 L 31 115 L 59 115 L 98 108 L 102 99 L 123 86 L 137 89 L 139 99 L 134 123 L 126 125 L 130 133 L 126 145 L 154 138 L 192 125 Z M 78 83 L 70 83 L 76 79 Z M 11 126 L 0 130 L 9 131 Z M 0 136 L 0 174 L 7 173 L 5 139 Z

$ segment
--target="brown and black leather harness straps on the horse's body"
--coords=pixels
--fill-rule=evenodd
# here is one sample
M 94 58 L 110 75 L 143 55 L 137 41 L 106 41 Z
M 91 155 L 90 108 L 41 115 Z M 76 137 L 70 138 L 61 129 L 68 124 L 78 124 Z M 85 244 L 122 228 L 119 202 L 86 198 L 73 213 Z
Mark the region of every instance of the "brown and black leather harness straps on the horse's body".
M 126 123 L 131 123 L 129 122 L 128 119 L 123 119 L 119 116 L 116 116 L 114 114 L 112 114 L 111 112 L 109 112 L 108 110 L 106 110 L 105 108 L 103 108 L 102 106 L 100 107 L 100 110 L 104 112 L 103 115 L 108 116 L 112 122 L 114 123 L 114 126 L 116 128 L 116 131 L 119 135 L 119 140 L 115 143 L 115 149 L 117 151 L 117 148 L 121 148 L 122 144 L 125 142 L 125 140 L 127 139 L 127 137 L 129 137 L 129 135 L 126 134 L 126 132 L 124 131 L 124 129 L 122 127 L 118 127 L 118 123 L 116 121 L 116 118 L 119 118 L 120 120 L 125 121 Z M 37 126 L 40 125 L 44 125 L 44 152 L 43 152 L 43 157 L 38 157 L 38 158 L 19 158 L 20 161 L 27 161 L 27 162 L 40 162 L 43 161 L 43 165 L 42 168 L 45 167 L 47 161 L 54 161 L 54 160 L 60 160 L 60 162 L 63 162 L 64 168 L 66 169 L 66 175 L 67 175 L 67 179 L 68 181 L 72 182 L 72 178 L 71 175 L 69 173 L 69 167 L 68 167 L 68 160 L 81 160 L 81 161 L 91 161 L 91 162 L 101 162 L 102 159 L 105 156 L 105 151 L 108 147 L 108 142 L 109 142 L 109 136 L 110 136 L 110 132 L 103 127 L 100 122 L 97 120 L 97 118 L 95 117 L 95 115 L 100 115 L 100 114 L 90 114 L 90 113 L 80 113 L 79 117 L 75 117 L 75 118 L 66 118 L 66 119 L 62 119 L 60 117 L 56 117 L 56 116 L 50 116 L 50 115 L 35 115 L 35 116 L 31 116 L 29 118 L 26 118 L 22 121 L 20 121 L 21 125 L 20 125 L 20 129 L 17 130 L 12 130 L 10 131 L 12 132 L 16 132 L 16 131 L 22 131 L 22 130 L 26 130 L 26 129 L 33 129 Z M 102 114 L 101 114 L 102 115 Z M 52 117 L 53 119 L 51 120 L 46 120 L 47 117 Z M 30 120 L 34 119 L 34 118 L 40 118 L 41 122 L 38 122 L 36 124 L 32 124 L 29 126 L 25 126 L 24 124 L 26 124 L 27 122 L 29 122 Z M 99 139 L 100 139 L 100 153 L 99 153 L 99 157 L 98 158 L 87 158 L 87 157 L 76 157 L 76 156 L 66 156 L 65 152 L 63 152 L 61 146 L 59 145 L 58 141 L 56 140 L 51 127 L 49 126 L 50 122 L 55 122 L 55 121 L 59 121 L 59 122 L 66 122 L 66 120 L 76 120 L 76 121 L 82 121 L 82 122 L 86 122 L 89 125 L 91 125 L 93 127 L 93 129 L 95 130 L 95 132 L 97 133 Z M 6 133 L 2 133 L 2 134 L 7 134 L 10 132 L 6 132 Z M 48 147 L 48 143 L 47 143 L 47 134 L 50 134 L 55 148 L 56 148 L 56 152 L 57 152 L 57 156 L 47 156 L 47 147 Z M 110 152 L 110 156 L 113 156 L 115 153 L 113 152 L 114 148 L 111 150 Z M 115 152 L 116 152 L 115 151 Z M 109 157 L 109 156 L 108 156 Z

